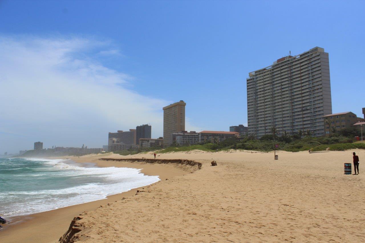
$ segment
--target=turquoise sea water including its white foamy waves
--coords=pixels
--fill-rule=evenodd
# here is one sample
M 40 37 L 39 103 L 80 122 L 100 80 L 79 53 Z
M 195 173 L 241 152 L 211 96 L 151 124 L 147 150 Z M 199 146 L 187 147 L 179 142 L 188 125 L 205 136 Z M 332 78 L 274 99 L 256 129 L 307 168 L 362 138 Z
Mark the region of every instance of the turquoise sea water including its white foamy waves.
M 95 201 L 159 180 L 132 168 L 80 166 L 62 159 L 0 158 L 0 216 Z

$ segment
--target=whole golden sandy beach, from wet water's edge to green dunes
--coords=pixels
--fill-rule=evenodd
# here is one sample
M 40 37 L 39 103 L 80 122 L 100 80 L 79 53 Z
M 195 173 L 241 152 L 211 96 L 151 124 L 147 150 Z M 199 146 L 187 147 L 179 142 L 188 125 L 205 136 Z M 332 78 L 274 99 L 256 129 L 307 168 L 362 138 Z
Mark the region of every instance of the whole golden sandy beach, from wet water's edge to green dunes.
M 98 166 L 143 168 L 142 173 L 160 175 L 161 181 L 139 189 L 137 195 L 135 189 L 30 215 L 0 236 L 4 242 L 57 242 L 78 216 L 65 242 L 361 242 L 365 175 L 343 174 L 343 163 L 352 163 L 353 151 L 360 157 L 361 170 L 361 150 L 279 151 L 277 161 L 273 153 L 257 151 L 158 156 L 202 163 L 195 171 L 170 164 L 98 160 L 153 158 L 152 153 L 73 158 Z M 218 166 L 210 166 L 212 160 Z

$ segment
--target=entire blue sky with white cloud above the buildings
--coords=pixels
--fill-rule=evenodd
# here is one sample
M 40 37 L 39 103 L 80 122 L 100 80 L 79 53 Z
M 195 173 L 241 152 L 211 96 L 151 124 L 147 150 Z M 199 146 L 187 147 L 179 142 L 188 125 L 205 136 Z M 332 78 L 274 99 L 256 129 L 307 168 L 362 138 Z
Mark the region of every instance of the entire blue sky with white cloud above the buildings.
M 101 147 L 184 100 L 187 130 L 247 125 L 246 78 L 315 46 L 333 112 L 365 107 L 365 1 L 0 0 L 0 153 Z

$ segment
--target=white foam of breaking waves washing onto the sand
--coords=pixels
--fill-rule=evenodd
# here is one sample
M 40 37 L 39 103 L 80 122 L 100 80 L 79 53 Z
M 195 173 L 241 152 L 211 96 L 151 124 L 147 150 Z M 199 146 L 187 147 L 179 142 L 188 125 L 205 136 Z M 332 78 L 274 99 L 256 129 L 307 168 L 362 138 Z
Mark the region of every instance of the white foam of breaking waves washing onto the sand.
M 50 174 L 45 173 L 42 169 L 42 173 L 29 175 L 34 178 L 34 180 L 37 180 L 37 178 L 42 176 L 51 175 L 51 179 L 62 179 L 64 182 L 68 182 L 68 178 L 71 178 L 73 184 L 68 185 L 65 183 L 59 185 L 61 188 L 19 190 L 0 193 L 1 198 L 12 200 L 11 204 L 5 204 L 3 207 L 0 206 L 1 213 L 4 216 L 37 213 L 100 200 L 112 194 L 126 192 L 132 188 L 150 185 L 160 180 L 158 176 L 147 176 L 140 173 L 140 169 L 80 167 L 67 163 L 67 161 L 62 159 L 27 160 L 42 161 L 47 166 L 52 165 L 50 166 L 52 169 L 52 171 L 49 172 Z

